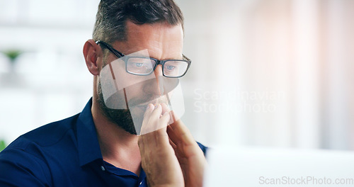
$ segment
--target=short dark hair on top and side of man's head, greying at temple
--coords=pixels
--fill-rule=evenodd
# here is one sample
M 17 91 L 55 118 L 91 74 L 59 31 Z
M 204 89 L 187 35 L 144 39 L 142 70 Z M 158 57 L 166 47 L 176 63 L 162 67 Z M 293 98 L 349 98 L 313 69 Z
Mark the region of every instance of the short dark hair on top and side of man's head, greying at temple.
M 181 23 L 183 28 L 183 14 L 173 0 L 101 0 L 93 40 L 126 40 L 127 20 L 135 24 L 167 22 L 175 26 Z

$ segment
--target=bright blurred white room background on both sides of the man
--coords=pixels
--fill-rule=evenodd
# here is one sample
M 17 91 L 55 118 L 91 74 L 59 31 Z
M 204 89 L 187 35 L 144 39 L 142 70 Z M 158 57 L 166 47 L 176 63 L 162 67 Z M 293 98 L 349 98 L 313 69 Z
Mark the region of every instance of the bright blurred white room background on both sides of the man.
M 0 140 L 81 112 L 98 0 L 0 0 Z M 208 146 L 354 149 L 354 1 L 178 0 L 183 121 Z

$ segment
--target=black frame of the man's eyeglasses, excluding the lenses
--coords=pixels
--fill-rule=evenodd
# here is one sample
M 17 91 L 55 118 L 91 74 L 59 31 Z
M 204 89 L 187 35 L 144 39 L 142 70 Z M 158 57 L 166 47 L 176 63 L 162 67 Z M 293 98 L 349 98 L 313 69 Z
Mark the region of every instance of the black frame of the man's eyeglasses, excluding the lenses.
M 108 50 L 110 50 L 110 52 L 112 52 L 116 57 L 118 58 L 121 58 L 121 57 L 127 57 L 127 59 L 125 59 L 125 72 L 129 73 L 129 74 L 135 74 L 135 75 L 139 75 L 139 76 L 147 76 L 149 74 L 152 74 L 152 72 L 155 71 L 157 65 L 161 64 L 162 66 L 162 74 L 164 75 L 164 77 L 169 77 L 169 78 L 180 78 L 180 77 L 183 77 L 187 72 L 188 72 L 188 69 L 190 67 L 190 64 L 192 63 L 192 61 L 188 58 L 188 57 L 185 57 L 185 55 L 182 54 L 183 56 L 183 60 L 157 60 L 155 58 L 152 58 L 152 57 L 139 57 L 139 58 L 146 58 L 146 59 L 150 59 L 150 60 L 154 60 L 156 63 L 154 65 L 154 68 L 152 69 L 152 72 L 149 72 L 149 74 L 136 74 L 136 73 L 133 73 L 133 72 L 129 72 L 128 69 L 127 69 L 127 62 L 129 60 L 129 58 L 131 58 L 130 56 L 126 56 L 124 54 L 122 54 L 122 52 L 119 52 L 118 50 L 115 50 L 115 48 L 113 48 L 111 45 L 109 45 L 108 43 L 106 42 L 103 42 L 101 40 L 97 40 L 96 41 L 96 44 L 97 45 L 103 45 L 103 47 L 107 48 Z M 101 46 L 100 45 L 100 46 Z M 178 76 L 178 77 L 171 77 L 171 76 L 166 76 L 165 73 L 164 73 L 164 65 L 165 65 L 165 62 L 170 62 L 170 61 L 183 61 L 183 62 L 187 62 L 188 63 L 188 67 L 187 69 L 185 69 L 185 72 L 181 75 L 181 76 Z

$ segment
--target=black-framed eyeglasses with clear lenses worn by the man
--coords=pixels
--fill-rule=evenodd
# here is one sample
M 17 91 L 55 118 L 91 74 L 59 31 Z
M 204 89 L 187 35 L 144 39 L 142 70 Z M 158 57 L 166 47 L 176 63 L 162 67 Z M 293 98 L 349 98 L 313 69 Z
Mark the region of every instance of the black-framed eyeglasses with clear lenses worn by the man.
M 135 75 L 149 75 L 154 72 L 157 65 L 161 64 L 164 77 L 179 78 L 183 77 L 190 67 L 192 61 L 183 55 L 183 60 L 157 60 L 152 57 L 131 57 L 123 55 L 122 52 L 115 50 L 108 43 L 101 40 L 96 44 L 105 47 L 118 58 L 125 57 L 125 71 Z

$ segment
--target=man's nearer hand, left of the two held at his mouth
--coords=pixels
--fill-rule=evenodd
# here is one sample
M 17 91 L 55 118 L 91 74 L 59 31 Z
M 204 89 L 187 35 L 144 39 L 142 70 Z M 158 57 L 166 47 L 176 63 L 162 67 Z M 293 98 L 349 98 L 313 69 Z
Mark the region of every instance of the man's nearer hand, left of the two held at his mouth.
M 164 111 L 164 115 L 161 115 Z M 170 145 L 166 125 L 170 120 L 168 110 L 161 105 L 149 104 L 144 113 L 142 135 L 138 145 L 142 156 L 142 168 L 147 174 L 149 186 L 184 186 L 183 173 Z M 154 131 L 151 131 L 151 129 Z M 158 129 L 158 130 L 156 130 Z M 144 132 L 149 132 L 144 134 Z

